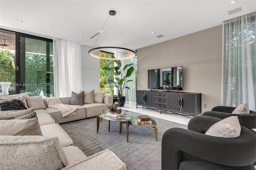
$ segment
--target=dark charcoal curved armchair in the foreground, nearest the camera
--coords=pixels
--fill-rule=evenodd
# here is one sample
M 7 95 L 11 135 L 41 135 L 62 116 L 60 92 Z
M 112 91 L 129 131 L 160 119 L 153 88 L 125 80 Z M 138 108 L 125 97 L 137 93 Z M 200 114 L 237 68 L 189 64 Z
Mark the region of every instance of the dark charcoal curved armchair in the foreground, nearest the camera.
M 193 117 L 188 130 L 170 128 L 162 137 L 162 170 L 255 170 L 256 135 L 241 126 L 237 138 L 204 134 L 221 119 Z

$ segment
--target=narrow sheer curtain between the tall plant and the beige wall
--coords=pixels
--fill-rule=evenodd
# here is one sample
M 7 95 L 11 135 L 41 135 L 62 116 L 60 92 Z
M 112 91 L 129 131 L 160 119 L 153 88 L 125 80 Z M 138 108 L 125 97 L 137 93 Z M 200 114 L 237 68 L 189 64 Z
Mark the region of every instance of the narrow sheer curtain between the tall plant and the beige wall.
M 130 64 L 133 63 L 133 67 L 134 67 L 134 71 L 132 73 L 132 75 L 130 77 L 127 77 L 127 80 L 133 80 L 127 83 L 127 86 L 130 89 L 126 89 L 126 105 L 132 105 L 132 106 L 136 106 L 136 57 L 130 58 L 130 59 L 126 59 L 126 64 Z M 124 64 L 125 65 L 125 64 Z

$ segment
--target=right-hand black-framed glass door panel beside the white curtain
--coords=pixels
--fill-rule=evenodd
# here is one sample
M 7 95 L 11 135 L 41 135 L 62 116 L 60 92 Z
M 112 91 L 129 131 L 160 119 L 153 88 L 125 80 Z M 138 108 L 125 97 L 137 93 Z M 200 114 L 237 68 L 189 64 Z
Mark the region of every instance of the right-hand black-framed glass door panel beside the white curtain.
M 53 82 L 53 43 L 52 40 L 17 34 L 16 65 L 19 67 L 16 90 L 27 92 L 30 96 L 54 95 Z

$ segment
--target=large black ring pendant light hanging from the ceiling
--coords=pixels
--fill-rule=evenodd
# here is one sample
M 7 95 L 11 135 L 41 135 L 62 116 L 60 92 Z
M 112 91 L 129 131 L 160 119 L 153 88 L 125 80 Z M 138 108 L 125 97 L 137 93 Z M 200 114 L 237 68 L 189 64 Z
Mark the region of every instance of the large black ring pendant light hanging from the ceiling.
M 113 10 L 110 10 L 109 14 L 110 14 L 110 16 L 114 16 L 114 15 L 116 15 L 116 12 L 113 11 Z M 108 18 L 110 16 L 108 16 Z M 108 18 L 107 18 L 107 20 L 108 20 Z M 106 20 L 106 22 L 107 22 L 107 20 Z M 97 34 L 95 34 L 91 38 L 93 38 L 93 37 L 95 37 L 98 34 L 101 34 L 103 32 L 103 28 L 104 28 L 106 22 L 104 23 L 104 25 L 102 27 L 102 30 L 100 30 L 100 32 L 98 32 Z M 121 34 L 121 32 L 120 32 L 120 34 Z M 121 37 L 122 37 L 122 34 L 121 34 Z M 98 39 L 99 39 L 99 37 L 97 38 L 97 40 Z M 97 40 L 94 42 L 94 45 L 97 42 Z M 123 42 L 124 42 L 124 40 L 123 40 Z M 90 49 L 89 52 L 88 52 L 89 55 L 91 55 L 92 57 L 97 57 L 97 58 L 101 58 L 101 59 L 112 59 L 112 60 L 117 60 L 118 59 L 119 60 L 119 59 L 132 58 L 136 55 L 136 53 L 133 50 L 123 48 L 123 47 L 107 47 L 106 46 L 106 47 L 96 47 L 96 48 L 94 48 L 94 45 L 93 45 L 92 49 Z M 114 55 L 112 55 L 112 58 L 108 58 L 108 57 L 104 57 L 104 55 L 100 55 L 101 52 L 110 53 L 110 54 L 114 54 Z

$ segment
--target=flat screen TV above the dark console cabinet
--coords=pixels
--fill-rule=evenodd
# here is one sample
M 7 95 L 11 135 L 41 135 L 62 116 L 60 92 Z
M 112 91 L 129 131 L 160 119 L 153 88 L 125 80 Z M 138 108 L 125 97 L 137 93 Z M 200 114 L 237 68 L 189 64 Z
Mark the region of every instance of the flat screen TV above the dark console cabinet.
M 148 89 L 182 90 L 183 67 L 148 70 Z

